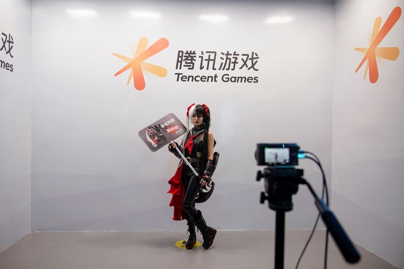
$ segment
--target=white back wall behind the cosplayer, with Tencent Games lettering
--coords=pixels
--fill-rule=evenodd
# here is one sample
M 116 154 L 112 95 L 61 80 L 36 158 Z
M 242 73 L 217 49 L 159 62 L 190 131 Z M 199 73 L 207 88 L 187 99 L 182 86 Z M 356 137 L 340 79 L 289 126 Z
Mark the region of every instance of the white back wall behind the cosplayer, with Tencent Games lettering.
M 73 18 L 67 10 L 96 16 Z M 156 11 L 158 21 L 130 17 Z M 219 13 L 214 24 L 199 15 Z M 291 16 L 283 24 L 268 17 Z M 114 77 L 138 40 L 165 37 L 167 49 L 147 61 L 168 75 L 146 74 L 146 88 Z M 297 142 L 331 167 L 333 2 L 96 2 L 33 1 L 32 10 L 32 226 L 34 230 L 184 229 L 168 207 L 168 179 L 177 160 L 151 153 L 138 130 L 174 112 L 184 118 L 192 102 L 206 103 L 221 160 L 214 196 L 199 208 L 219 229 L 274 228 L 275 213 L 259 204 L 256 143 Z M 178 50 L 258 52 L 259 83 L 177 82 Z M 214 74 L 186 71 L 184 74 Z M 217 71 L 219 78 L 224 71 Z M 317 187 L 318 168 L 304 161 Z M 301 187 L 288 228 L 311 228 L 317 211 Z

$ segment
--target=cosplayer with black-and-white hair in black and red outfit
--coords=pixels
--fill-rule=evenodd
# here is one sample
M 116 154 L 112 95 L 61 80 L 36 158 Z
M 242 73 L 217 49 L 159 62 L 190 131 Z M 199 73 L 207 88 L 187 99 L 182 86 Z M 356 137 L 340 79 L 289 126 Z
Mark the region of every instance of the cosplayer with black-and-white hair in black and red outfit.
M 189 239 L 186 241 L 186 249 L 192 249 L 196 243 L 195 226 L 204 237 L 203 247 L 208 249 L 216 236 L 216 229 L 206 225 L 205 219 L 199 210 L 195 209 L 195 196 L 201 186 L 211 183 L 211 175 L 215 168 L 213 147 L 216 142 L 212 131 L 209 130 L 211 115 L 209 108 L 203 105 L 192 104 L 187 110 L 188 132 L 183 147 L 172 142 L 169 151 L 177 158 L 181 158 L 176 147 L 187 158 L 188 162 L 201 176 L 199 180 L 188 165 L 182 161 L 175 175 L 169 180 L 171 185 L 168 193 L 173 197 L 170 206 L 174 207 L 173 220 L 187 220 Z M 191 129 L 189 127 L 190 123 Z

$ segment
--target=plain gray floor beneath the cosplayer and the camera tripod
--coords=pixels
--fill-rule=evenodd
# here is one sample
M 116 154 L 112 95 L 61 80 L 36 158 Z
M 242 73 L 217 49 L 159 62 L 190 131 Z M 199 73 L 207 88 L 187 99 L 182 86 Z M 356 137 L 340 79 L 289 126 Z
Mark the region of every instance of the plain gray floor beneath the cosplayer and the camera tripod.
M 323 268 L 324 230 L 316 231 L 299 268 Z M 285 268 L 294 268 L 310 234 L 287 230 Z M 34 232 L 0 252 L 1 269 L 273 268 L 274 231 L 219 230 L 209 250 L 176 247 L 185 231 Z M 200 236 L 198 240 L 201 240 Z M 396 268 L 357 245 L 362 259 L 344 262 L 331 239 L 328 268 Z

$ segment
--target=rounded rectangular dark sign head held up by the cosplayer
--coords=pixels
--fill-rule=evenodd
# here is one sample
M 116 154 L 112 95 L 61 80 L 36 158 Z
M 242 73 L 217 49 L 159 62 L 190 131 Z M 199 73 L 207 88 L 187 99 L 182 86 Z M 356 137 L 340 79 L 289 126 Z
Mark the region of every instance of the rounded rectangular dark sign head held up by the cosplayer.
M 151 151 L 155 152 L 168 145 L 170 141 L 178 138 L 185 132 L 185 125 L 182 124 L 174 113 L 170 113 L 141 129 L 139 131 L 139 137 Z

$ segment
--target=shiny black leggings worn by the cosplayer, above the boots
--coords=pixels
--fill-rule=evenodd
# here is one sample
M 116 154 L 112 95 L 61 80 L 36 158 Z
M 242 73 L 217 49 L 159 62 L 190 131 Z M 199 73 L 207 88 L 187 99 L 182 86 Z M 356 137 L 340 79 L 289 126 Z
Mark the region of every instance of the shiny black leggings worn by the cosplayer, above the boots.
M 199 174 L 199 163 L 192 163 L 191 165 L 195 169 L 196 173 Z M 195 220 L 198 214 L 198 211 L 195 209 L 195 196 L 198 194 L 201 185 L 199 183 L 199 179 L 186 164 L 184 164 L 182 169 L 182 182 L 185 189 L 182 207 L 191 220 Z

